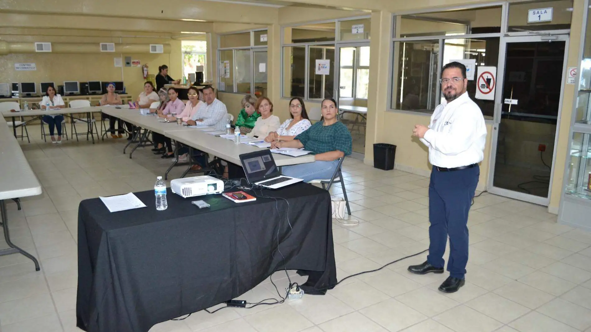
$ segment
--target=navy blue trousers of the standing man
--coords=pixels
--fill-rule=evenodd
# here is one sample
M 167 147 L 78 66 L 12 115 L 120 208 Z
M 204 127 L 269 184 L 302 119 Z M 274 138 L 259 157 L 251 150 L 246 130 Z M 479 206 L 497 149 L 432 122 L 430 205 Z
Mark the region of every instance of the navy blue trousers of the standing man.
M 447 271 L 464 279 L 468 262 L 468 212 L 478 184 L 480 168 L 440 172 L 431 171 L 429 184 L 429 255 L 427 261 L 443 268 L 443 253 L 449 236 Z

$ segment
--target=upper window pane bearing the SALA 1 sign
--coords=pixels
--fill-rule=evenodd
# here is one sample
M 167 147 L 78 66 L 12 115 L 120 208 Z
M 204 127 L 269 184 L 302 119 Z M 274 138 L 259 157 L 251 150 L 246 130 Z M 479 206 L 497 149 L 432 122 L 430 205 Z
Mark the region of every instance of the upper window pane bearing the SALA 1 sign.
M 528 10 L 537 8 L 552 8 L 552 21 L 528 23 Z M 508 31 L 570 29 L 572 8 L 573 0 L 509 3 Z M 543 19 L 541 15 L 539 18 Z

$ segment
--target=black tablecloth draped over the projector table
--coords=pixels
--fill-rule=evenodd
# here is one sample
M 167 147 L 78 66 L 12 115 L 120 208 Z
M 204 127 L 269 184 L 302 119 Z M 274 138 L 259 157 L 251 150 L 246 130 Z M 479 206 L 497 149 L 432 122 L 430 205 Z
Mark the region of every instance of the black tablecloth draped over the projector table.
M 284 268 L 278 241 L 287 269 L 324 271 L 317 289 L 336 284 L 326 190 L 300 183 L 262 191 L 289 204 L 261 197 L 237 204 L 168 188 L 164 211 L 155 209 L 154 191 L 135 194 L 147 207 L 110 213 L 99 198 L 80 203 L 76 317 L 83 330 L 146 332 L 238 297 Z M 191 204 L 199 199 L 211 207 Z

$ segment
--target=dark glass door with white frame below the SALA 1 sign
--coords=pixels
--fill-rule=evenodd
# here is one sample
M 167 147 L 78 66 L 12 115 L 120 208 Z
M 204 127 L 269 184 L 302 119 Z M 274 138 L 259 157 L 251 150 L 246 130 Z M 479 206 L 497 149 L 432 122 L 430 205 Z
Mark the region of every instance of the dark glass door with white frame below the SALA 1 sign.
M 497 70 L 489 191 L 548 205 L 566 35 L 505 37 Z

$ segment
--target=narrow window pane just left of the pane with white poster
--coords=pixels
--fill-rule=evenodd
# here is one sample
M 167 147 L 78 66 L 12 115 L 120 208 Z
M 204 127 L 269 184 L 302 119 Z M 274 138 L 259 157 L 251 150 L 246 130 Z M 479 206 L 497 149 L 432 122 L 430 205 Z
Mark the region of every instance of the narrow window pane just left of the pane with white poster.
M 304 97 L 306 91 L 306 47 L 283 48 L 283 96 Z

